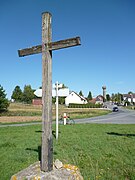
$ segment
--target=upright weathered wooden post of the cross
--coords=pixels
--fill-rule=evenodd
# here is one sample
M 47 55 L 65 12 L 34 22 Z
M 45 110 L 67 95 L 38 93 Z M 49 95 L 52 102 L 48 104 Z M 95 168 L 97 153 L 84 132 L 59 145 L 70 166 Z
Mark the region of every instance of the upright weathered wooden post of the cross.
M 51 14 L 42 14 L 42 44 L 52 40 Z M 45 45 L 42 46 L 42 147 L 41 170 L 53 169 L 52 141 L 52 57 Z

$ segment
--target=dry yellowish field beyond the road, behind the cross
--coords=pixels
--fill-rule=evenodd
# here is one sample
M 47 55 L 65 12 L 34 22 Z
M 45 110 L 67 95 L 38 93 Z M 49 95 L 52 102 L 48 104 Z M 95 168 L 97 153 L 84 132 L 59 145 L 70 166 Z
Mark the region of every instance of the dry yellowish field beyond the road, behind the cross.
M 0 123 L 41 121 L 41 108 L 41 106 L 11 103 L 8 112 L 0 114 Z M 53 120 L 56 119 L 55 112 L 55 105 L 53 105 Z M 59 105 L 59 117 L 63 113 L 67 113 L 71 118 L 77 119 L 104 115 L 108 114 L 109 111 L 104 109 L 70 109 Z

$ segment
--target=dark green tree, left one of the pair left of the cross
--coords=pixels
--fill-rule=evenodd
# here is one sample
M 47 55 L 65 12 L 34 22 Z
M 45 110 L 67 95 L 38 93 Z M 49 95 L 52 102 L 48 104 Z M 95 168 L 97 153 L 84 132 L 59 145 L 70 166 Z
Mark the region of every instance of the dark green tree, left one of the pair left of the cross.
M 14 99 L 16 102 L 21 102 L 22 96 L 23 96 L 23 93 L 22 93 L 20 86 L 16 86 L 12 93 L 11 98 Z

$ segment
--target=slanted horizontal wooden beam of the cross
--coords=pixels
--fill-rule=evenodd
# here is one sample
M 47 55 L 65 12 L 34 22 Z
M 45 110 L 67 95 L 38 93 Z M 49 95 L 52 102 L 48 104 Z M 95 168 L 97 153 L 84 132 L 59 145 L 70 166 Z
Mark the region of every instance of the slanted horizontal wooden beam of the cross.
M 58 50 L 72 46 L 81 45 L 80 37 L 60 40 L 52 43 L 45 44 L 47 50 Z M 38 54 L 42 52 L 42 45 L 33 46 L 26 49 L 18 50 L 19 57 Z

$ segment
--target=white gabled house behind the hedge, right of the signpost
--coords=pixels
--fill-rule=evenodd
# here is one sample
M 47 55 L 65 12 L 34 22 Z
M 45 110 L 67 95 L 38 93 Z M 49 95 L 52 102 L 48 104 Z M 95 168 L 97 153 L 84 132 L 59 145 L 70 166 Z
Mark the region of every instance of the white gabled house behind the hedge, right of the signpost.
M 65 98 L 65 105 L 68 106 L 70 103 L 74 104 L 86 104 L 87 100 L 80 96 L 79 94 L 72 91 L 66 98 Z

